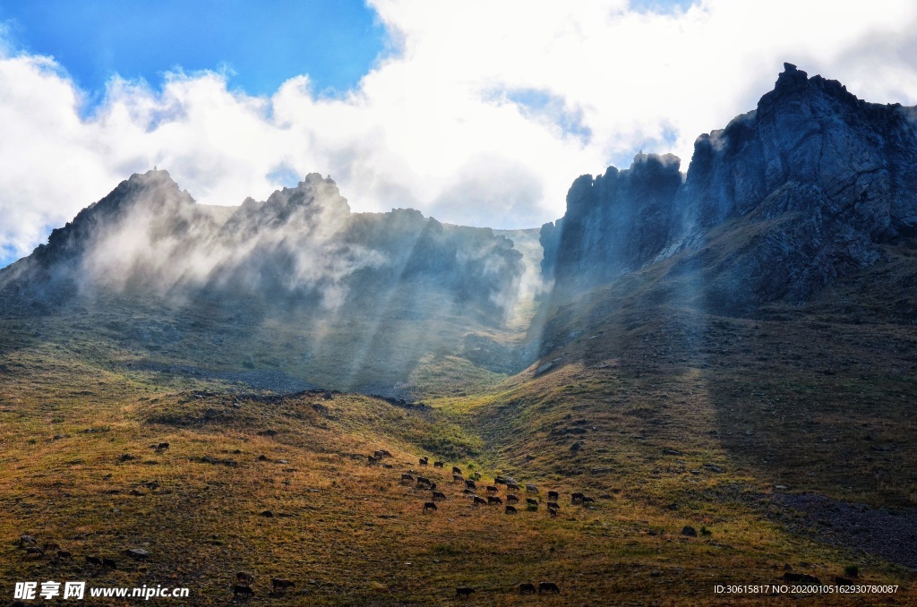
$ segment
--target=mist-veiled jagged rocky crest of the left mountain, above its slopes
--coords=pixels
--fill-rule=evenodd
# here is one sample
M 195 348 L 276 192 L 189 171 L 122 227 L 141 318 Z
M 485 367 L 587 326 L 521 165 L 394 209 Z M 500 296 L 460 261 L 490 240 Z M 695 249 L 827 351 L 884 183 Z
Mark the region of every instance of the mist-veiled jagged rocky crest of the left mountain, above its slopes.
M 0 299 L 60 303 L 102 287 L 332 309 L 398 291 L 498 323 L 523 270 L 512 241 L 490 228 L 445 226 L 411 209 L 354 214 L 317 173 L 227 209 L 195 204 L 168 172 L 149 171 L 0 270 Z

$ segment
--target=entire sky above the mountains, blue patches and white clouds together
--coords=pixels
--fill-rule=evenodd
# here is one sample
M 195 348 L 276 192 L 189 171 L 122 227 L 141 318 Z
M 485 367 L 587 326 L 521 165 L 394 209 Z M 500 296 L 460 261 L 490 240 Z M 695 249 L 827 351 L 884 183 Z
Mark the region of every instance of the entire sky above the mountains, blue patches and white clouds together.
M 0 0 L 0 266 L 154 165 L 204 204 L 320 172 L 540 226 L 639 149 L 686 170 L 783 61 L 917 104 L 914 31 L 913 0 Z

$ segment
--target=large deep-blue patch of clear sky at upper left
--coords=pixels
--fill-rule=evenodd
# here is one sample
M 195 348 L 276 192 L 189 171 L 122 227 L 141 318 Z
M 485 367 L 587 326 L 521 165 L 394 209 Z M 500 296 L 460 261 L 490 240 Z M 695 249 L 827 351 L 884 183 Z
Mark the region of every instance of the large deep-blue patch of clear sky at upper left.
M 348 90 L 385 49 L 360 0 L 34 0 L 0 2 L 21 50 L 51 55 L 98 100 L 114 74 L 159 86 L 181 68 L 228 71 L 229 83 L 270 95 L 307 73 L 315 91 Z

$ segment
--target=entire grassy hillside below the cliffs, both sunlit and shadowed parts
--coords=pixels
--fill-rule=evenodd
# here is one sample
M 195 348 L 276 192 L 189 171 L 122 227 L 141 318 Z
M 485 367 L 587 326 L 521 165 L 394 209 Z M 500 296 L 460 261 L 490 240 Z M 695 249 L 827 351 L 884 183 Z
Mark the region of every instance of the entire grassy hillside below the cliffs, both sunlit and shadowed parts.
M 894 263 L 882 271 L 899 283 Z M 820 495 L 902 521 L 917 506 L 917 327 L 894 312 L 906 292 L 870 301 L 855 297 L 857 280 L 808 309 L 753 318 L 595 292 L 557 304 L 545 357 L 514 376 L 454 354 L 418 356 L 411 390 L 425 406 L 281 396 L 134 364 L 159 356 L 241 371 L 238 353 L 250 351 L 260 368 L 271 344 L 292 338 L 282 327 L 260 333 L 260 345 L 232 337 L 215 348 L 208 326 L 222 321 L 205 314 L 174 343 L 174 321 L 155 310 L 5 319 L 0 596 L 11 599 L 17 580 L 87 579 L 187 586 L 187 604 L 223 605 L 245 570 L 256 594 L 238 602 L 250 604 L 452 604 L 460 586 L 481 605 L 914 604 L 914 565 L 872 550 L 877 529 L 812 520 L 786 499 Z M 165 327 L 163 337 L 118 337 L 132 325 Z M 188 352 L 206 348 L 189 340 L 213 352 L 195 359 Z M 283 357 L 271 369 L 296 370 Z M 150 448 L 160 442 L 170 448 Z M 377 449 L 392 452 L 391 468 L 367 465 Z M 421 469 L 425 455 L 446 468 Z M 534 482 L 541 504 L 515 515 L 476 508 L 451 482 L 454 465 L 482 482 Z M 401 482 L 409 469 L 447 494 L 436 513 L 423 512 L 430 491 Z M 560 492 L 557 518 L 548 490 Z M 574 491 L 594 506 L 571 504 Z M 686 525 L 698 535 L 682 535 Z M 27 557 L 22 534 L 60 544 L 73 562 Z M 149 559 L 125 556 L 136 547 Z M 788 568 L 830 583 L 851 566 L 857 581 L 899 591 L 713 591 L 778 583 Z M 296 586 L 272 594 L 271 578 Z M 518 594 L 542 580 L 560 594 Z

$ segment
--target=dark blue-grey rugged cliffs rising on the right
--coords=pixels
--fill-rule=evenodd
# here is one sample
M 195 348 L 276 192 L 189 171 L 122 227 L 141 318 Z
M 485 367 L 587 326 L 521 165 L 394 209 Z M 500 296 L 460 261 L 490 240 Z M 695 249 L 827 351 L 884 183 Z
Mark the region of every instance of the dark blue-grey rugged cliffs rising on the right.
M 697 139 L 683 184 L 660 168 L 605 185 L 638 174 L 642 156 L 574 182 L 567 214 L 542 231 L 546 273 L 589 287 L 675 257 L 670 275 L 719 312 L 804 303 L 882 259 L 883 243 L 917 236 L 914 116 L 786 63 L 756 110 Z

